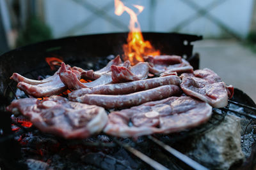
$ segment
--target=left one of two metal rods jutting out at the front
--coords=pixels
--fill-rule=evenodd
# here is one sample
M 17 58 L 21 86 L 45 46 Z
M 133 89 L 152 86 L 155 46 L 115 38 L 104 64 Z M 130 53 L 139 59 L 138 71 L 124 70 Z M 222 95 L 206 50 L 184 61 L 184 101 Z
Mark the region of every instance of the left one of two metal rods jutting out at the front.
M 120 141 L 118 141 L 117 139 L 113 139 L 113 140 L 118 145 L 124 147 L 125 150 L 127 150 L 127 151 L 131 152 L 132 154 L 136 155 L 136 157 L 138 157 L 139 159 L 143 160 L 144 162 L 146 162 L 148 165 L 154 167 L 155 169 L 159 169 L 159 170 L 167 170 L 168 169 L 167 167 L 163 166 L 162 164 L 159 164 L 155 160 L 151 159 L 150 157 L 148 157 L 147 155 L 141 153 L 140 151 L 132 148 L 131 146 L 123 144 Z

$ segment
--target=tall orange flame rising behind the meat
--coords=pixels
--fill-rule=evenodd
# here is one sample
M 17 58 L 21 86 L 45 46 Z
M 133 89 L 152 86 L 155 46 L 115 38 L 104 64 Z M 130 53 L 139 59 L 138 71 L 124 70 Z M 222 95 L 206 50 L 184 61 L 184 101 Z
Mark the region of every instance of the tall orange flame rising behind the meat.
M 138 9 L 139 13 L 143 11 L 144 7 L 140 5 L 133 5 Z M 130 60 L 131 64 L 134 65 L 137 62 L 144 61 L 143 57 L 147 55 L 160 55 L 159 50 L 155 50 L 149 41 L 144 41 L 141 34 L 140 24 L 138 22 L 137 14 L 128 8 L 120 0 L 115 0 L 115 14 L 120 16 L 126 11 L 130 17 L 129 29 L 130 32 L 127 38 L 127 44 L 123 45 L 124 49 L 124 60 Z

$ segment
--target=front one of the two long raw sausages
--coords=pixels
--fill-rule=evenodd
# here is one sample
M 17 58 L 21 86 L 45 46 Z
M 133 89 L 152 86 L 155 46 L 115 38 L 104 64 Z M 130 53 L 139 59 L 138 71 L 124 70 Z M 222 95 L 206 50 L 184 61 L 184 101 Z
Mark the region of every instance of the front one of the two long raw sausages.
M 144 90 L 125 95 L 102 95 L 102 94 L 85 94 L 77 97 L 76 101 L 86 104 L 95 104 L 104 108 L 127 108 L 137 106 L 148 101 L 157 101 L 180 94 L 182 91 L 177 85 L 163 85 L 150 90 Z

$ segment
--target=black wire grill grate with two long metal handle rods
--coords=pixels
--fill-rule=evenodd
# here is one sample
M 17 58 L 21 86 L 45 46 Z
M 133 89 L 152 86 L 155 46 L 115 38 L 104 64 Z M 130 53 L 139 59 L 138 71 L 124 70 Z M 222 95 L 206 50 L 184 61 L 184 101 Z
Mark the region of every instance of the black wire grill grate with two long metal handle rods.
M 74 64 L 74 65 L 76 65 L 76 64 Z M 49 66 L 45 66 L 45 67 L 39 67 L 38 69 L 35 69 L 35 70 L 28 71 L 28 72 L 22 74 L 22 76 L 37 79 L 38 76 L 45 78 L 45 77 L 47 77 L 47 75 L 51 75 L 51 74 L 53 74 L 53 72 L 49 69 Z M 65 94 L 62 94 L 62 95 L 65 96 Z M 24 92 L 22 92 L 16 88 L 15 81 L 11 81 L 9 83 L 8 87 L 6 87 L 6 89 L 4 90 L 4 96 L 7 97 L 10 101 L 12 101 L 13 99 L 29 97 L 27 94 L 25 94 Z M 152 142 L 156 143 L 157 145 L 161 146 L 162 148 L 164 148 L 164 150 L 171 153 L 174 157 L 176 157 L 176 158 L 180 159 L 182 162 L 186 163 L 189 167 L 192 167 L 193 169 L 207 169 L 204 166 L 195 162 L 194 160 L 189 159 L 189 157 L 187 157 L 186 155 L 183 155 L 182 153 L 178 152 L 177 150 L 174 150 L 169 145 L 172 145 L 173 143 L 176 143 L 177 141 L 180 141 L 184 138 L 189 138 L 191 136 L 194 136 L 195 134 L 202 134 L 206 131 L 211 130 L 212 128 L 216 127 L 216 125 L 220 124 L 224 120 L 224 118 L 228 112 L 233 112 L 237 115 L 243 115 L 244 117 L 248 117 L 251 119 L 256 119 L 256 116 L 252 115 L 250 113 L 241 113 L 241 112 L 232 110 L 232 108 L 230 108 L 230 104 L 237 105 L 241 108 L 247 108 L 247 109 L 256 111 L 256 108 L 253 108 L 251 106 L 247 106 L 245 104 L 240 104 L 235 101 L 228 101 L 227 107 L 212 109 L 213 114 L 207 124 L 200 125 L 199 127 L 196 127 L 194 129 L 189 129 L 188 131 L 182 131 L 179 133 L 168 134 L 168 135 L 156 134 L 156 135 L 154 135 L 154 137 L 147 136 L 147 138 L 150 141 L 152 141 Z M 9 139 L 13 139 L 17 136 L 20 136 L 22 134 L 26 134 L 29 132 L 42 134 L 42 132 L 35 129 L 35 127 L 29 127 L 29 128 L 23 127 L 17 122 L 13 122 L 13 124 L 17 125 L 20 128 L 19 131 L 15 132 L 13 134 L 10 134 L 9 136 L 6 136 L 4 138 L 1 138 L 0 143 L 2 143 L 3 141 L 8 141 Z M 42 135 L 45 135 L 45 134 L 42 134 Z M 113 141 L 112 143 L 104 143 L 102 141 L 99 141 L 99 139 L 93 139 L 93 142 L 84 142 L 84 141 L 79 141 L 79 140 L 77 140 L 75 142 L 76 142 L 76 144 L 80 143 L 80 144 L 83 144 L 84 146 L 97 146 L 97 147 L 109 147 L 109 148 L 111 148 L 111 147 L 116 148 L 117 146 L 122 146 L 123 148 L 125 148 L 125 150 L 128 150 L 132 154 L 136 155 L 138 158 L 140 158 L 141 160 L 146 162 L 151 167 L 154 167 L 155 169 L 167 169 L 166 167 L 159 164 L 155 160 L 150 159 L 150 157 L 148 157 L 147 155 L 139 152 L 135 148 L 132 148 L 131 145 L 124 144 L 116 138 L 111 138 L 111 137 L 109 137 L 109 138 Z M 172 139 L 172 140 L 170 141 L 170 139 Z M 168 143 L 168 145 L 166 145 L 165 143 Z M 135 143 L 135 145 L 136 145 L 136 143 Z

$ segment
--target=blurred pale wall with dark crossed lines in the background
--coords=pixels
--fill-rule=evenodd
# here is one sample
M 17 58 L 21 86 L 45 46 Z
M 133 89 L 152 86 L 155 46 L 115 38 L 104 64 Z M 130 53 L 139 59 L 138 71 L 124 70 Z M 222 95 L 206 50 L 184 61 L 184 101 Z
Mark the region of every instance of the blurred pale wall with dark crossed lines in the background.
M 79 0 L 77 0 L 79 1 Z M 82 2 L 85 0 L 81 0 Z M 214 2 L 224 0 L 184 0 L 192 1 L 204 8 Z M 118 17 L 114 13 L 114 1 L 113 0 L 94 0 L 86 1 L 87 3 L 102 8 L 106 4 L 112 3 L 113 7 L 106 11 L 109 17 L 113 17 L 118 20 L 123 26 L 116 26 L 115 22 L 109 22 L 103 18 L 93 14 L 92 11 L 87 10 L 80 4 L 72 0 L 45 0 L 45 21 L 52 28 L 53 34 L 56 38 L 63 36 L 72 36 L 80 34 L 95 34 L 104 32 L 120 32 L 128 31 L 129 15 L 124 13 Z M 154 6 L 150 8 L 149 0 L 127 0 L 124 3 L 131 7 L 131 4 L 140 4 L 145 6 L 145 10 L 138 16 L 142 31 L 154 31 L 154 32 L 172 32 L 173 28 L 177 24 L 180 24 L 186 18 L 196 15 L 196 10 L 188 6 L 180 0 L 155 0 Z M 111 4 L 110 4 L 111 6 Z M 132 8 L 135 9 L 135 8 Z M 228 29 L 235 32 L 241 38 L 245 38 L 250 29 L 250 22 L 253 9 L 253 0 L 227 0 L 221 3 L 216 8 L 209 11 L 210 15 L 217 18 L 220 22 L 225 24 Z M 154 15 L 152 15 L 152 13 Z M 75 25 L 83 23 L 86 18 L 95 15 L 93 21 L 90 24 L 77 27 L 73 29 Z M 107 17 L 108 17 L 107 16 Z M 152 16 L 152 18 L 150 18 Z M 150 26 L 151 25 L 151 26 Z M 220 28 L 207 17 L 198 17 L 193 22 L 185 25 L 179 32 L 188 34 L 201 34 L 204 38 L 221 38 L 230 36 L 228 32 Z

